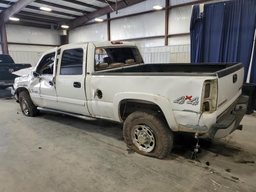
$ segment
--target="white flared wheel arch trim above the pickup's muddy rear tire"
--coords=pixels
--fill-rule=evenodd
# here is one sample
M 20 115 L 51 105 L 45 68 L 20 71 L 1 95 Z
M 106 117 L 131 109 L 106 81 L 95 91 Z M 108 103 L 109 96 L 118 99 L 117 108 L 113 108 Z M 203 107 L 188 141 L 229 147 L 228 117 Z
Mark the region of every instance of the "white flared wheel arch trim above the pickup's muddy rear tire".
M 155 110 L 158 108 L 163 113 L 164 118 L 166 119 L 167 124 L 173 131 L 178 131 L 178 126 L 174 118 L 174 113 L 170 102 L 164 96 L 150 93 L 138 93 L 138 92 L 121 92 L 115 95 L 113 102 L 113 110 L 115 119 L 119 122 L 123 122 L 122 116 L 122 107 L 123 103 L 134 102 L 143 104 L 154 105 Z M 140 108 L 143 109 L 143 108 Z M 147 108 L 146 109 L 150 109 Z

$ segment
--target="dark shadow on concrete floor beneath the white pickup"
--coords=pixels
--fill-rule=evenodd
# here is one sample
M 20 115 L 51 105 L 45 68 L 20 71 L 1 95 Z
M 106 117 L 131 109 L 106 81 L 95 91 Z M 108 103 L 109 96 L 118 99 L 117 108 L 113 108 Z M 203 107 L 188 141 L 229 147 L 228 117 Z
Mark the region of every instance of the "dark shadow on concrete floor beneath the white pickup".
M 124 140 L 122 134 L 122 124 L 116 122 L 110 122 L 106 120 L 85 121 L 79 118 L 71 116 L 63 116 L 56 113 L 42 113 L 39 117 L 47 120 L 55 121 L 61 124 L 69 125 L 74 128 L 81 129 L 85 132 L 97 132 L 106 136 L 110 136 L 116 140 Z M 194 138 L 194 134 L 190 133 L 174 133 L 174 146 L 170 158 L 182 156 L 190 159 L 191 154 L 194 151 L 197 140 Z M 215 153 L 216 156 L 222 155 L 227 157 L 234 157 L 243 150 L 239 147 L 226 145 L 226 143 L 216 142 L 208 139 L 199 139 L 200 149 Z M 201 154 L 202 156 L 203 154 Z M 166 159 L 167 160 L 167 159 Z

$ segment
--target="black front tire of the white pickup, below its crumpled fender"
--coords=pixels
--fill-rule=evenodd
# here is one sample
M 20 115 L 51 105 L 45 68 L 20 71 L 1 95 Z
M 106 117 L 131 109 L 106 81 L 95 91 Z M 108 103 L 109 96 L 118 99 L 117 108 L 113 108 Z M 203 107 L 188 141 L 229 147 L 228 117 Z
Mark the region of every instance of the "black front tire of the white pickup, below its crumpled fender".
M 34 116 L 38 115 L 39 111 L 37 110 L 36 106 L 32 102 L 32 100 L 30 98 L 30 95 L 27 91 L 20 92 L 19 102 L 20 102 L 20 108 L 21 108 L 21 111 L 22 111 L 23 115 L 31 116 L 31 117 L 34 117 Z M 28 111 L 26 111 L 23 107 L 24 102 L 27 105 L 27 110 Z

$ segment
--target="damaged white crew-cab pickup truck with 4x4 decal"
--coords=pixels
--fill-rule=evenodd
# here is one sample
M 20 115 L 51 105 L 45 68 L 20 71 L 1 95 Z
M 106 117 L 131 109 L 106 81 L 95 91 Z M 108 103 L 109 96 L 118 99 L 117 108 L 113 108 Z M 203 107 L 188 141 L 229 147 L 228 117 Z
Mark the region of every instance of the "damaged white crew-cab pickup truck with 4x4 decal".
M 144 64 L 133 42 L 83 42 L 45 52 L 12 94 L 25 116 L 53 111 L 124 123 L 129 148 L 161 159 L 173 132 L 223 138 L 242 130 L 243 79 L 242 63 Z

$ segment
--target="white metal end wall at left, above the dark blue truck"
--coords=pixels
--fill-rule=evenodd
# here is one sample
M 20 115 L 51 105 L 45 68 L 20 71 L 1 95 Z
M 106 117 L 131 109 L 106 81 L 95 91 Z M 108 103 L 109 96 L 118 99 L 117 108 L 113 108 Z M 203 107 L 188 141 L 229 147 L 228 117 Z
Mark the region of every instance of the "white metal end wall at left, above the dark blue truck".
M 6 24 L 6 36 L 9 54 L 14 62 L 29 63 L 32 66 L 36 66 L 46 50 L 60 45 L 58 30 Z

